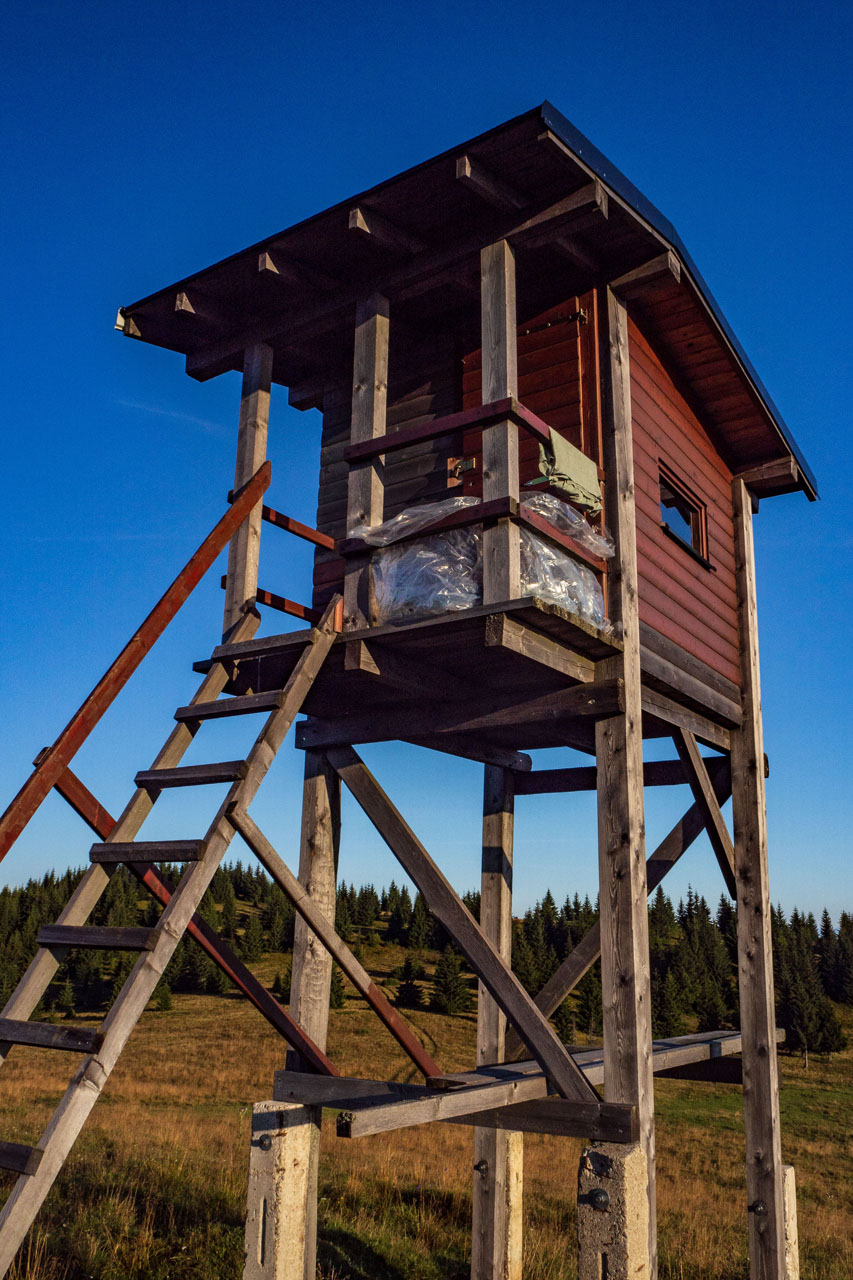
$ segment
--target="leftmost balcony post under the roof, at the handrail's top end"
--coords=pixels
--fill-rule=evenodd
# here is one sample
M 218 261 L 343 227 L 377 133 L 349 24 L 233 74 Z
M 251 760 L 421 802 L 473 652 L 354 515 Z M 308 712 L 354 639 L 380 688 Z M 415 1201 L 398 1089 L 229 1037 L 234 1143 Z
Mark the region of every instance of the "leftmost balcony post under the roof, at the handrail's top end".
M 240 398 L 240 424 L 237 428 L 237 465 L 234 467 L 234 493 L 255 475 L 266 457 L 266 430 L 269 426 L 269 389 L 273 380 L 273 348 L 266 343 L 248 347 L 243 356 L 243 388 Z M 257 589 L 257 558 L 260 552 L 261 509 L 259 502 L 240 526 L 228 547 L 228 576 L 225 580 L 225 616 L 223 641 L 243 616 L 245 605 L 254 600 Z

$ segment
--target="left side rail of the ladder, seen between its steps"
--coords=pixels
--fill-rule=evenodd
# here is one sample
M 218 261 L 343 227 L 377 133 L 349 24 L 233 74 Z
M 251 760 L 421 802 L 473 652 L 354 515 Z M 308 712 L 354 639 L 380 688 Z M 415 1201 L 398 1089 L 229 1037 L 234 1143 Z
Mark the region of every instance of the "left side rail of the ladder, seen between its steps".
M 255 635 L 259 623 L 260 618 L 256 614 L 246 614 L 238 623 L 233 637 L 234 641 L 245 643 L 250 640 Z M 227 666 L 220 662 L 211 660 L 205 678 L 196 690 L 193 703 L 209 701 L 211 698 L 216 698 L 228 684 L 228 680 L 229 669 Z M 197 724 L 177 724 L 158 751 L 152 768 L 170 768 L 178 764 L 184 751 L 192 742 L 197 730 Z M 110 833 L 111 838 L 115 841 L 133 840 L 137 831 L 150 814 L 155 799 L 156 797 L 145 788 L 134 791 L 131 800 L 126 805 L 122 817 Z M 56 924 L 85 924 L 100 901 L 100 897 L 108 884 L 109 873 L 100 865 L 91 865 L 65 904 Z M 9 997 L 9 1001 L 3 1009 L 3 1016 L 17 1019 L 29 1018 L 50 986 L 58 968 L 59 960 L 54 952 L 49 951 L 46 947 L 41 947 L 33 956 L 23 978 Z M 6 1046 L 0 1042 L 0 1065 L 5 1061 L 6 1052 Z

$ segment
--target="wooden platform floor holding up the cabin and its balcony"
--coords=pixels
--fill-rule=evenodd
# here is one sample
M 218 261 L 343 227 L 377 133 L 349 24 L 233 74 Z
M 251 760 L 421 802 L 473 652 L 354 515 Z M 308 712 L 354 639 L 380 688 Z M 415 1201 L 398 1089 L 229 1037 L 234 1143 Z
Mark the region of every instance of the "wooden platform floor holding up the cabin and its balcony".
M 310 636 L 223 645 L 196 669 L 232 659 L 227 692 L 277 690 Z M 676 664 L 653 632 L 646 640 L 644 736 L 669 735 L 676 723 L 727 749 L 740 716 L 734 686 L 686 655 Z M 297 745 L 405 740 L 516 768 L 525 767 L 519 751 L 592 753 L 596 721 L 621 709 L 619 681 L 597 680 L 596 664 L 620 649 L 615 635 L 534 596 L 347 632 L 306 699 Z

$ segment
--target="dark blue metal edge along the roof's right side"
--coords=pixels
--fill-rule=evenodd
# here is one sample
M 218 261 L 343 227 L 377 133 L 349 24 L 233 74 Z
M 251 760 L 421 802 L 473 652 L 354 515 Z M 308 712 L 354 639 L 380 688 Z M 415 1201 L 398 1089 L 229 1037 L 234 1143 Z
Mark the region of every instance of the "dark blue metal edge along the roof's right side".
M 654 230 L 658 232 L 658 234 L 662 236 L 663 239 L 666 239 L 670 243 L 670 246 L 676 251 L 676 253 L 681 259 L 683 265 L 690 273 L 697 289 L 699 291 L 706 303 L 708 305 L 708 308 L 712 312 L 715 320 L 720 325 L 726 339 L 729 340 L 731 349 L 734 351 L 738 360 L 743 365 L 744 372 L 752 381 L 756 392 L 758 393 L 761 401 L 765 404 L 765 408 L 767 410 L 770 417 L 776 425 L 779 434 L 781 435 L 783 440 L 785 442 L 785 444 L 793 453 L 794 458 L 797 460 L 797 466 L 799 467 L 802 477 L 806 481 L 803 488 L 806 489 L 807 497 L 817 498 L 817 481 L 812 475 L 811 467 L 808 466 L 806 458 L 803 457 L 799 445 L 797 444 L 794 436 L 790 433 L 790 429 L 788 428 L 788 424 L 785 422 L 784 417 L 774 404 L 770 393 L 767 392 L 767 388 L 765 387 L 761 378 L 756 372 L 745 351 L 738 342 L 731 329 L 731 325 L 729 324 L 722 311 L 720 310 L 716 298 L 711 293 L 711 289 L 708 288 L 704 278 L 702 276 L 702 273 L 699 271 L 690 253 L 688 252 L 684 241 L 676 232 L 675 227 L 672 227 L 672 223 L 667 218 L 665 218 L 663 214 L 660 211 L 660 209 L 656 209 L 654 205 L 651 202 L 651 200 L 647 200 L 643 192 L 638 191 L 634 183 L 630 182 L 625 177 L 625 174 L 616 168 L 616 165 L 611 164 L 607 156 L 602 155 L 598 147 L 593 146 L 589 138 L 585 138 L 584 134 L 580 133 L 580 131 L 576 129 L 574 124 L 571 124 L 571 122 L 567 120 L 565 115 L 562 115 L 562 113 L 556 109 L 556 106 L 546 101 L 542 104 L 539 110 L 542 114 L 543 123 L 551 129 L 551 132 L 556 133 L 560 141 L 565 142 L 565 145 L 569 147 L 570 151 L 574 151 L 575 155 L 584 161 L 584 164 L 589 165 L 589 168 L 601 178 L 603 183 L 606 183 L 608 187 L 612 187 L 616 195 L 621 196 L 621 198 L 628 205 L 631 206 L 634 212 L 639 214 L 640 218 L 646 219 L 646 221 L 651 227 L 653 227 Z

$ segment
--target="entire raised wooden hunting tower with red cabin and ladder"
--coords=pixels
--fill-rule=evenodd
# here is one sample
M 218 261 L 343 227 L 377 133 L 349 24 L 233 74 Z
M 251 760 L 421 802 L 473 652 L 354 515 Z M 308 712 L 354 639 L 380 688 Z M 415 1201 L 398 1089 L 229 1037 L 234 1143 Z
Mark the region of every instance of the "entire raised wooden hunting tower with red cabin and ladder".
M 521 1134 L 583 1135 L 594 1146 L 580 1172 L 580 1275 L 653 1276 L 653 1074 L 680 1071 L 742 1079 L 751 1275 L 783 1280 L 794 1224 L 780 1152 L 752 518 L 761 498 L 813 498 L 815 484 L 674 228 L 544 104 L 123 307 L 118 328 L 181 352 L 199 380 L 242 372 L 231 511 L 146 622 L 142 650 L 231 539 L 224 635 L 196 664 L 201 689 L 115 824 L 68 760 L 138 662 L 127 650 L 3 819 L 5 849 L 56 787 L 102 842 L 3 1012 L 0 1039 L 85 1059 L 42 1140 L 0 1148 L 20 1172 L 0 1220 L 0 1274 L 190 928 L 293 1046 L 274 1101 L 256 1108 L 247 1277 L 314 1275 L 323 1106 L 350 1137 L 474 1125 L 475 1280 L 521 1274 Z M 316 529 L 261 503 L 274 381 L 323 415 Z M 259 586 L 264 522 L 315 544 L 310 605 L 288 600 L 286 584 Z M 415 576 L 424 548 L 441 558 L 451 544 L 469 557 L 442 580 L 469 591 L 452 607 L 430 595 L 434 579 Z M 575 594 L 570 579 L 581 582 Z M 259 637 L 257 605 L 311 626 Z M 246 810 L 298 710 L 297 879 Z M 179 767 L 206 719 L 250 713 L 268 718 L 245 762 Z M 644 764 L 648 737 L 672 739 L 674 759 Z M 479 923 L 353 749 L 389 740 L 485 765 Z M 525 753 L 553 746 L 594 763 L 533 768 Z M 204 840 L 134 838 L 163 788 L 214 781 L 231 790 Z M 479 977 L 467 1073 L 441 1071 L 334 932 L 341 782 Z M 693 804 L 647 860 L 644 785 L 684 782 Z M 601 919 L 534 1000 L 511 972 L 514 801 L 580 790 L 598 792 Z M 734 836 L 720 812 L 729 796 Z M 300 915 L 289 1015 L 193 916 L 236 831 Z M 702 831 L 736 897 L 742 1027 L 653 1042 L 647 895 Z M 187 870 L 173 890 L 156 863 L 179 859 Z M 164 904 L 159 924 L 85 928 L 122 863 Z M 28 1019 L 68 947 L 85 945 L 141 956 L 102 1028 L 72 1043 L 70 1030 Z M 599 955 L 603 1051 L 573 1051 L 548 1018 Z M 424 1084 L 338 1076 L 325 1053 L 332 957 Z

